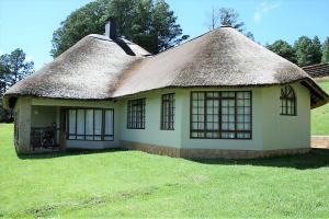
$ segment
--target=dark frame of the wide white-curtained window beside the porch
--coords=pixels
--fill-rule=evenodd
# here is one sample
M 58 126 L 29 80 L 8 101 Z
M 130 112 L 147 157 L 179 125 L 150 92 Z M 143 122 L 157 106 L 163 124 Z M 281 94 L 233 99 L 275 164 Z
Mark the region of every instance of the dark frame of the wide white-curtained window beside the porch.
M 83 135 L 78 135 L 77 134 L 77 127 L 78 127 L 78 111 L 83 111 L 83 117 L 84 117 L 84 130 L 83 130 Z M 75 134 L 70 134 L 69 130 L 70 130 L 70 116 L 69 116 L 69 112 L 70 111 L 76 111 L 76 130 L 75 130 Z M 87 111 L 92 111 L 93 113 L 93 116 L 92 116 L 92 123 L 93 123 L 93 135 L 86 135 L 86 112 Z M 95 111 L 101 111 L 102 112 L 102 120 L 101 120 L 101 135 L 94 135 L 94 116 L 95 116 Z M 112 135 L 105 135 L 105 112 L 109 111 L 109 112 L 112 112 L 112 130 L 113 130 L 113 134 Z M 65 114 L 66 114 L 66 140 L 81 140 L 81 141 L 114 141 L 114 108 L 88 108 L 88 107 L 73 107 L 73 108 L 65 108 Z M 76 138 L 72 139 L 70 138 L 71 136 L 75 136 Z M 78 136 L 79 137 L 83 137 L 83 139 L 78 139 Z M 88 137 L 92 137 L 92 140 L 91 139 L 87 139 L 87 136 Z M 100 140 L 95 139 L 95 137 L 101 137 Z M 109 137 L 109 138 L 112 138 L 110 140 L 106 140 L 105 138 Z

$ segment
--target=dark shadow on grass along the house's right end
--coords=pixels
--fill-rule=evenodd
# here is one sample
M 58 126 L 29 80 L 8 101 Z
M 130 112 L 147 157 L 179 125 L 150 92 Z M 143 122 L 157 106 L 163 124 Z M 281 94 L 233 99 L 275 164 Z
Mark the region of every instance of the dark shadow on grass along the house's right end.
M 193 159 L 191 161 L 212 165 L 259 165 L 273 168 L 293 168 L 298 170 L 329 166 L 329 149 L 311 149 L 310 152 L 296 155 L 281 155 L 264 159 L 225 160 Z

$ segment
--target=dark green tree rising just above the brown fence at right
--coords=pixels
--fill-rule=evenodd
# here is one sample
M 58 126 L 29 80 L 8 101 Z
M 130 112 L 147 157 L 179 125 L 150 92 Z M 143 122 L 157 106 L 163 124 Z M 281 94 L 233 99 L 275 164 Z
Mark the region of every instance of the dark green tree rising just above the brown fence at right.
M 296 50 L 297 64 L 300 67 L 319 64 L 321 59 L 320 43 L 318 37 L 315 36 L 311 41 L 307 36 L 300 36 L 294 44 Z

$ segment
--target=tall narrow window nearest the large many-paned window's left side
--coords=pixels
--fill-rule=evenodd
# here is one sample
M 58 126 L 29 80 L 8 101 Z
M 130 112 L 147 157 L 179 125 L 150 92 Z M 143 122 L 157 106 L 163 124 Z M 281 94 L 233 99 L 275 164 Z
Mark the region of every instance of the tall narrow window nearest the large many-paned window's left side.
M 161 129 L 173 130 L 174 125 L 174 93 L 163 94 L 161 103 Z

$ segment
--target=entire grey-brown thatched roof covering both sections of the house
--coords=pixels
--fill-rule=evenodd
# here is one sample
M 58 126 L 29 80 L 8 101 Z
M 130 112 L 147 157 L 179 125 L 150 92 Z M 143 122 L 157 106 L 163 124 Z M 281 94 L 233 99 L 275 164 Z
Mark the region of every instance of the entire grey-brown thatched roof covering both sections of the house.
M 132 54 L 133 51 L 133 54 Z M 135 55 L 135 56 L 132 56 Z M 220 27 L 156 56 L 125 41 L 89 35 L 33 76 L 12 87 L 8 96 L 104 100 L 162 88 L 264 87 L 303 81 L 313 106 L 328 95 L 299 67 Z

